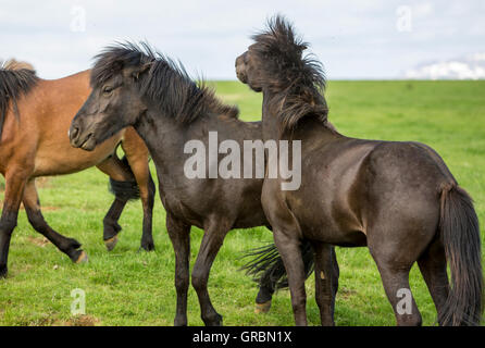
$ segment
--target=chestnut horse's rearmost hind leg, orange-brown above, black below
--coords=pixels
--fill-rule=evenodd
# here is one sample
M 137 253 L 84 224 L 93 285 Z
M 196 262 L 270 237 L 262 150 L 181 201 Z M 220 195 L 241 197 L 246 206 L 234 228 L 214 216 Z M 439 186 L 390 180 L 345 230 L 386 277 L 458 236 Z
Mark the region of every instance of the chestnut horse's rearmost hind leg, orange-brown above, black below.
M 151 251 L 154 250 L 152 216 L 156 186 L 150 175 L 150 166 L 148 165 L 149 152 L 145 142 L 133 128 L 126 129 L 122 148 L 125 152 L 126 159 L 128 160 L 129 167 L 132 169 L 140 191 L 141 204 L 144 209 L 141 248 L 147 251 Z

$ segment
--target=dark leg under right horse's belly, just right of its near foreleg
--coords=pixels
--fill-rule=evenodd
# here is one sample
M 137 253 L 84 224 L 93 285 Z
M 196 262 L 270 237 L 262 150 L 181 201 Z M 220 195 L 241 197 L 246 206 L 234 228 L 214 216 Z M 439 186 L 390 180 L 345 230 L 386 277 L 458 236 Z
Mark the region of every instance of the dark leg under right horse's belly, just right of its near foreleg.
M 315 300 L 320 309 L 322 326 L 334 326 L 336 279 L 334 262 L 335 250 L 331 245 L 312 243 L 315 254 Z

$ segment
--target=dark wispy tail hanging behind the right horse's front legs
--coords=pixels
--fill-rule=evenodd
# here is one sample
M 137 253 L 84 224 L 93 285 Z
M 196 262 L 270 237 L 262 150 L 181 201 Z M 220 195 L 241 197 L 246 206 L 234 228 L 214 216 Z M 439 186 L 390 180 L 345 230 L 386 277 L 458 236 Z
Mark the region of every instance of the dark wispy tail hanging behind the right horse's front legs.
M 303 258 L 304 274 L 308 278 L 313 272 L 314 258 L 313 250 L 308 240 L 301 243 L 301 256 Z M 242 258 L 253 258 L 240 270 L 252 276 L 253 281 L 273 293 L 276 289 L 288 287 L 288 277 L 282 257 L 274 244 L 254 248 L 245 252 Z

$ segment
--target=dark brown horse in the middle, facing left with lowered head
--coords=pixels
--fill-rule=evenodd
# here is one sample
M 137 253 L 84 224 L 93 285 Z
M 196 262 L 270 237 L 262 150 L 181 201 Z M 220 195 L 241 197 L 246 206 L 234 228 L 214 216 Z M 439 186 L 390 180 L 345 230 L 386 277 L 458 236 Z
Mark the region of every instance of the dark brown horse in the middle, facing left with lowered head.
M 211 89 L 194 83 L 182 65 L 145 44 L 117 45 L 98 55 L 91 86 L 91 95 L 71 125 L 71 144 L 94 150 L 120 129 L 135 127 L 157 166 L 166 229 L 175 250 L 175 325 L 187 324 L 192 225 L 204 229 L 191 273 L 201 318 L 206 325 L 221 325 L 222 316 L 209 298 L 209 272 L 228 231 L 268 225 L 261 208 L 263 181 L 254 176 L 210 177 L 212 170 L 217 171 L 213 160 L 221 162 L 222 152 L 212 160 L 211 154 L 202 160 L 204 177 L 189 178 L 185 169 L 194 149 L 187 153 L 186 145 L 198 141 L 208 149 L 212 141 L 210 134 L 214 133 L 215 145 L 225 140 L 236 145 L 260 140 L 261 123 L 239 121 L 236 108 L 222 104 Z M 242 147 L 239 151 L 242 152 Z M 252 169 L 256 171 L 256 165 Z M 266 285 L 274 285 L 284 273 L 277 260 L 271 264 Z M 261 302 L 271 299 L 273 285 L 262 288 Z

